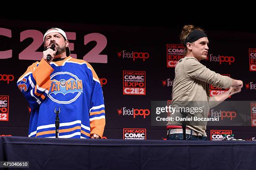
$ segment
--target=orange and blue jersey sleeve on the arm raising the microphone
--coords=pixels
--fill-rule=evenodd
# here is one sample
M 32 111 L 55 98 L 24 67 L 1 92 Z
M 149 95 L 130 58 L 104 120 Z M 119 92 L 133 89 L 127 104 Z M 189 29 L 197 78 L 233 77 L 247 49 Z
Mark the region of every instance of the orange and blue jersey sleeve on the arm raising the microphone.
M 31 107 L 36 109 L 44 101 L 51 87 L 50 75 L 53 68 L 42 59 L 28 67 L 19 78 L 17 86 Z

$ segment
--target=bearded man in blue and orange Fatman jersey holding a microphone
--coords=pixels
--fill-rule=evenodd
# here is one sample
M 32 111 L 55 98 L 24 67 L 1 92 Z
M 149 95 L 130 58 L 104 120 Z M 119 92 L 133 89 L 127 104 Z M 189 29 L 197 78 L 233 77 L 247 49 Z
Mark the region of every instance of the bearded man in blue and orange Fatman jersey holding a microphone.
M 92 66 L 70 56 L 67 35 L 59 28 L 46 31 L 44 47 L 41 61 L 17 82 L 31 107 L 28 137 L 55 138 L 58 110 L 59 138 L 102 138 L 105 105 Z

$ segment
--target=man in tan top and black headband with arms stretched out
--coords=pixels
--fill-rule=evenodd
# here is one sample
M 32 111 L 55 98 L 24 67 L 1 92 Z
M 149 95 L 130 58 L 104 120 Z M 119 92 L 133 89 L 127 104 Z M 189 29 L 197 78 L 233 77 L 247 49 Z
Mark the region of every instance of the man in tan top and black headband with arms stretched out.
M 220 75 L 200 63 L 200 60 L 207 58 L 209 50 L 207 35 L 201 28 L 185 25 L 180 39 L 184 44 L 185 57 L 180 59 L 175 67 L 172 106 L 182 105 L 182 103 L 185 103 L 184 105 L 193 103 L 191 105 L 194 105 L 195 102 L 198 104 L 205 101 L 207 104 L 204 112 L 201 112 L 201 115 L 195 113 L 193 116 L 207 117 L 210 108 L 215 107 L 230 95 L 240 92 L 243 82 Z M 218 88 L 229 88 L 229 90 L 220 95 L 210 97 L 209 84 Z M 183 117 L 192 113 L 181 112 L 179 114 L 183 114 Z M 206 123 L 205 125 L 196 125 L 195 122 L 190 122 L 187 125 L 184 122 L 169 121 L 167 123 L 167 139 L 207 140 L 205 130 Z

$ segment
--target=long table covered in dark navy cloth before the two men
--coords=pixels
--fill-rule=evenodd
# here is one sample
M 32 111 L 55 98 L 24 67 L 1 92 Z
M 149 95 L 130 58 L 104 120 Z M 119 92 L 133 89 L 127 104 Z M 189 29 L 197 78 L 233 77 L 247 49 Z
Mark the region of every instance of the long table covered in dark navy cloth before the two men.
M 35 170 L 253 170 L 256 142 L 0 137 L 0 160 Z

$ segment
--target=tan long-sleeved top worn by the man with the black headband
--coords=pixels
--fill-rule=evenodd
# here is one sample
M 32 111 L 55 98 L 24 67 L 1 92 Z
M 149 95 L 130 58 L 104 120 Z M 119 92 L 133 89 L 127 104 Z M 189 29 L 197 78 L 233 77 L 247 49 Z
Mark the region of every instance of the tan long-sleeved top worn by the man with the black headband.
M 207 117 L 210 108 L 217 105 L 216 102 L 210 102 L 215 101 L 215 97 L 210 97 L 209 84 L 219 88 L 228 88 L 231 85 L 231 79 L 211 71 L 195 57 L 182 58 L 175 67 L 172 103 L 177 101 L 207 101 L 207 108 L 203 113 L 203 116 Z M 169 121 L 167 125 L 177 125 L 177 121 Z M 206 135 L 206 126 L 187 125 L 187 127 Z

